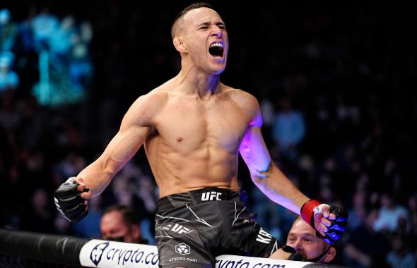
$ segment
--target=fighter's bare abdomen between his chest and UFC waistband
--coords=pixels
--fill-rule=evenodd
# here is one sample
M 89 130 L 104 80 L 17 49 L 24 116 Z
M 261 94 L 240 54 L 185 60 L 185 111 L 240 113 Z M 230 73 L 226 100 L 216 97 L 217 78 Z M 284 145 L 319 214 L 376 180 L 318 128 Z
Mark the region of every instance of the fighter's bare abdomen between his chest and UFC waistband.
M 174 152 L 161 143 L 158 138 L 146 142 L 146 155 L 160 197 L 205 187 L 239 190 L 237 153 L 209 146 L 192 152 Z

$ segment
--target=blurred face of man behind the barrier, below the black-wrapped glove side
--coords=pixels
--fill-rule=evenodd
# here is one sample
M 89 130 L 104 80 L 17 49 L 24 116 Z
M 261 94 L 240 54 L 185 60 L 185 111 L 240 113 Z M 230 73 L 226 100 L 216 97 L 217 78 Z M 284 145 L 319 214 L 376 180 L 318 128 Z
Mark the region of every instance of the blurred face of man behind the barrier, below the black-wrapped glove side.
M 123 238 L 122 242 L 131 242 L 129 226 L 124 222 L 120 212 L 112 211 L 102 215 L 100 231 L 102 239 Z

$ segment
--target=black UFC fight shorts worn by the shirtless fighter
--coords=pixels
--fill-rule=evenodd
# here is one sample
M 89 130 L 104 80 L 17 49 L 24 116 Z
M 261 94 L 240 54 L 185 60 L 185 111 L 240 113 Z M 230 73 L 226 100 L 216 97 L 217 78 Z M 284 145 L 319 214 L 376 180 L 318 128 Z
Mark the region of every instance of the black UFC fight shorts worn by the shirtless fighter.
M 218 255 L 269 257 L 281 248 L 239 196 L 204 188 L 161 198 L 155 216 L 160 267 L 215 267 Z

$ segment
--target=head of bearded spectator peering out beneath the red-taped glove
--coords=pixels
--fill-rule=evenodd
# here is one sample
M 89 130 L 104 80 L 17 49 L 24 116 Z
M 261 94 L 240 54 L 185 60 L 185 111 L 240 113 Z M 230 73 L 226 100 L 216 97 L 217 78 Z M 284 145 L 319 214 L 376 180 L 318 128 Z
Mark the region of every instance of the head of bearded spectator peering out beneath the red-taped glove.
M 286 245 L 293 247 L 309 262 L 329 263 L 336 257 L 336 248 L 318 238 L 316 233 L 312 226 L 297 216 L 288 232 Z

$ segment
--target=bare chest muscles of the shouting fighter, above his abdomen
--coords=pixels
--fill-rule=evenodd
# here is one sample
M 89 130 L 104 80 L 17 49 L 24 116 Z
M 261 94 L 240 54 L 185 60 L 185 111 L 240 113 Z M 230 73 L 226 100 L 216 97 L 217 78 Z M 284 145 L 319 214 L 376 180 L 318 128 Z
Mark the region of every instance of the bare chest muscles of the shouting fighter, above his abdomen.
M 159 138 L 176 150 L 213 147 L 237 152 L 250 119 L 231 101 L 177 101 L 155 121 Z

